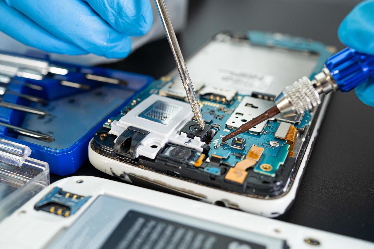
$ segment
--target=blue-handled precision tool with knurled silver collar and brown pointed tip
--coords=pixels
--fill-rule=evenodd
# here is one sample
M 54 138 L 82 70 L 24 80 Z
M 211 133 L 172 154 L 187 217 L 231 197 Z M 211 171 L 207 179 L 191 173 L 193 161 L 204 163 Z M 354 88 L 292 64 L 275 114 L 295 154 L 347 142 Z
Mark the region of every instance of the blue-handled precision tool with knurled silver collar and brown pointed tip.
M 373 76 L 374 55 L 366 55 L 350 48 L 343 49 L 327 59 L 322 72 L 312 80 L 303 77 L 286 86 L 274 99 L 275 106 L 224 136 L 222 141 L 246 132 L 278 113 L 282 113 L 285 118 L 303 114 L 319 105 L 324 94 L 337 90 L 350 91 Z

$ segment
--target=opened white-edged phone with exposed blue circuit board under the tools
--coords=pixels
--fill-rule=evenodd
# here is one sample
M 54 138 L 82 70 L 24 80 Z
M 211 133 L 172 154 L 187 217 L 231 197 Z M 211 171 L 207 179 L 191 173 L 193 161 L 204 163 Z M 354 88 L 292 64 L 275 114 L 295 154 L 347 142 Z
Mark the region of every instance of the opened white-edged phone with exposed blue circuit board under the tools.
M 276 217 L 292 203 L 327 98 L 221 138 L 274 105 L 276 94 L 321 71 L 333 47 L 279 33 L 221 32 L 188 61 L 203 118 L 193 120 L 178 72 L 155 81 L 99 129 L 89 159 L 101 171 L 159 190 Z

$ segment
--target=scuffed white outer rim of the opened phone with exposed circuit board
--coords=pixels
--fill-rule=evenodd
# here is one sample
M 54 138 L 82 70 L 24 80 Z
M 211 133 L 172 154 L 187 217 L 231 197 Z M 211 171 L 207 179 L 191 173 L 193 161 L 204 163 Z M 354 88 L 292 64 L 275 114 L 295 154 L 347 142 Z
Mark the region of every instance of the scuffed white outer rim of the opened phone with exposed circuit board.
M 91 164 L 95 166 L 95 168 L 110 175 L 112 175 L 112 172 L 114 172 L 116 175 L 134 174 L 140 177 L 147 178 L 151 181 L 163 183 L 167 186 L 180 189 L 182 192 L 185 192 L 184 190 L 187 190 L 188 192 L 196 193 L 196 195 L 204 196 L 204 201 L 209 203 L 215 203 L 217 201 L 232 203 L 234 206 L 237 206 L 240 210 L 245 212 L 259 214 L 266 217 L 277 217 L 283 214 L 295 199 L 298 186 L 300 185 L 301 177 L 303 176 L 307 160 L 311 153 L 313 142 L 318 134 L 318 129 L 324 117 L 329 98 L 329 95 L 326 96 L 324 102 L 321 105 L 321 111 L 319 113 L 319 116 L 317 117 L 316 125 L 310 137 L 309 144 L 306 148 L 303 160 L 301 161 L 300 167 L 297 171 L 295 180 L 291 188 L 286 194 L 275 199 L 259 199 L 243 196 L 240 194 L 191 183 L 189 181 L 180 180 L 178 178 L 128 165 L 96 153 L 91 149 L 92 140 L 88 146 L 88 157 Z M 131 182 L 128 176 L 126 176 L 123 180 Z

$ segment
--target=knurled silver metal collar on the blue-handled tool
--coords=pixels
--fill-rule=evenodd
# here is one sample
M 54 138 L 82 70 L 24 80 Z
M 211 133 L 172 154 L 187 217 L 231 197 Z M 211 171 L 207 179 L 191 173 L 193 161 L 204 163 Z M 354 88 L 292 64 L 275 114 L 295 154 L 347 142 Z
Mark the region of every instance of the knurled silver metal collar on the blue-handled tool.
M 302 114 L 321 103 L 313 83 L 303 77 L 288 85 L 275 98 L 275 103 L 284 117 Z

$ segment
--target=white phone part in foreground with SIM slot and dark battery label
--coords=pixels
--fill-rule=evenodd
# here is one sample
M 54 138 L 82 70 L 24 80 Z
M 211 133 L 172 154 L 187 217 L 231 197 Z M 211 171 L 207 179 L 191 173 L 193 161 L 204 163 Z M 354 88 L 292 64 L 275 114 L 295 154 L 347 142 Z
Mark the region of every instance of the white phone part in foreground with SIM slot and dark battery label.
M 0 248 L 9 249 L 373 247 L 363 240 L 88 176 L 46 187 L 1 221 L 0 231 Z

